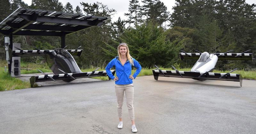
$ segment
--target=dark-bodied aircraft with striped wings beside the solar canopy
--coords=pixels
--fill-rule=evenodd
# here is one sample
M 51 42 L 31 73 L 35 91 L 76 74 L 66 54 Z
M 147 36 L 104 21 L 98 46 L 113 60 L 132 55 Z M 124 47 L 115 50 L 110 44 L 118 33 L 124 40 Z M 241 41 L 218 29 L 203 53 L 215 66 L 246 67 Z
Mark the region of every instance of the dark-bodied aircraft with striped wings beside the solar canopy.
M 12 55 L 20 57 L 44 56 L 46 58 L 46 62 L 51 68 L 54 75 L 48 75 L 38 70 L 44 75 L 32 76 L 30 78 L 31 87 L 34 87 L 35 82 L 51 80 L 63 80 L 66 82 L 70 82 L 75 80 L 76 78 L 107 76 L 106 71 L 97 71 L 99 68 L 95 69 L 92 72 L 82 72 L 80 70 L 75 59 L 73 58 L 73 56 L 81 56 L 83 50 L 79 49 L 80 47 L 74 50 L 66 50 L 65 48 L 57 48 L 54 50 L 39 50 L 37 48 L 37 50 L 22 50 L 20 48 L 17 48 L 19 50 L 12 51 Z M 111 70 L 111 72 L 114 75 L 116 71 Z

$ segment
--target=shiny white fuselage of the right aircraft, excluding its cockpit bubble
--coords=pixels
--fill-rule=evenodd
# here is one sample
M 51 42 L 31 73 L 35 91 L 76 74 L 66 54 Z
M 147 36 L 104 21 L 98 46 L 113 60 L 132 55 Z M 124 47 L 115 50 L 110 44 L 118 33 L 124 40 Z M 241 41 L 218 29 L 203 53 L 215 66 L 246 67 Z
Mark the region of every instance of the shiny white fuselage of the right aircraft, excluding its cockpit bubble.
M 218 61 L 218 56 L 210 54 L 209 58 L 204 62 L 196 61 L 196 64 L 192 67 L 191 71 L 195 72 L 209 72 L 211 71 Z

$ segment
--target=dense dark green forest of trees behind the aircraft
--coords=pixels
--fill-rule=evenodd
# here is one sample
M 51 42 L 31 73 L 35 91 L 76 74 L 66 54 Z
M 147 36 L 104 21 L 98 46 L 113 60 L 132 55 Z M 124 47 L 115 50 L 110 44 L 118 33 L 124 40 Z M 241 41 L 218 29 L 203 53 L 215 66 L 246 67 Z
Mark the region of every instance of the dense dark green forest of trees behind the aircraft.
M 195 52 L 241 53 L 251 49 L 256 52 L 256 5 L 245 0 L 176 0 L 173 12 L 159 0 L 130 0 L 129 19 L 107 21 L 102 26 L 92 27 L 66 36 L 68 49 L 79 46 L 84 49 L 81 57 L 74 57 L 78 66 L 105 66 L 117 55 L 116 47 L 126 42 L 130 54 L 142 67 L 154 64 L 170 67 L 191 67 L 195 60 L 180 61 L 180 50 Z M 116 13 L 104 3 L 84 3 L 73 7 L 58 0 L 32 0 L 28 6 L 21 0 L 0 1 L 0 21 L 19 7 L 88 14 L 110 17 Z M 167 23 L 166 23 L 167 22 Z M 0 58 L 5 59 L 4 35 L 0 34 Z M 14 36 L 13 42 L 21 43 L 24 50 L 60 48 L 60 37 Z M 43 57 L 22 58 L 23 62 L 44 63 Z M 255 70 L 255 61 L 218 61 L 218 70 L 238 67 Z

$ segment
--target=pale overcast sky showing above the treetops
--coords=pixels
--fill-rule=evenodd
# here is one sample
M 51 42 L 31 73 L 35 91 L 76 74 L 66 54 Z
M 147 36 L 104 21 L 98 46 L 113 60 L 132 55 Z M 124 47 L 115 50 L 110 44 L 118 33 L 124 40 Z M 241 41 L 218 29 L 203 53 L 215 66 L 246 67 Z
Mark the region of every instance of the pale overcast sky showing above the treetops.
M 31 5 L 32 0 L 23 0 L 25 3 L 28 5 Z M 82 6 L 80 5 L 80 2 L 84 3 L 96 3 L 96 2 L 101 2 L 102 4 L 105 4 L 108 6 L 108 8 L 112 8 L 116 10 L 116 14 L 112 16 L 112 22 L 116 21 L 118 17 L 120 17 L 122 20 L 127 19 L 126 16 L 124 16 L 124 13 L 128 13 L 128 8 L 129 8 L 129 0 L 59 0 L 63 4 L 63 6 L 66 5 L 67 2 L 69 2 L 72 6 L 73 9 L 76 8 L 76 6 L 79 6 L 80 9 L 82 10 Z M 141 1 L 141 0 L 139 0 Z M 167 11 L 170 11 L 172 13 L 172 7 L 175 6 L 175 0 L 160 0 L 161 2 L 164 3 L 164 5 L 167 7 Z M 246 3 L 248 4 L 255 4 L 255 0 L 245 0 Z M 86 13 L 83 13 L 86 14 Z

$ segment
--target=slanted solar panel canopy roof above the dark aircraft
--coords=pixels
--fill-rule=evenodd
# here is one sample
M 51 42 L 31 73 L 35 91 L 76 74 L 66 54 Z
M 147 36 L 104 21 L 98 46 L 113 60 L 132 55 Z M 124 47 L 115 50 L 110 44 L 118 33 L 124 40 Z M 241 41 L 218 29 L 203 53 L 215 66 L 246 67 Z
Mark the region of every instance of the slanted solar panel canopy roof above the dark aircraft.
M 0 23 L 4 35 L 65 36 L 91 26 L 100 26 L 107 17 L 58 11 L 18 8 Z

